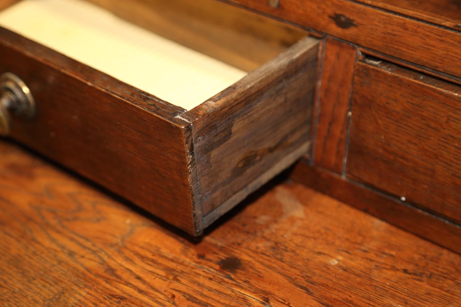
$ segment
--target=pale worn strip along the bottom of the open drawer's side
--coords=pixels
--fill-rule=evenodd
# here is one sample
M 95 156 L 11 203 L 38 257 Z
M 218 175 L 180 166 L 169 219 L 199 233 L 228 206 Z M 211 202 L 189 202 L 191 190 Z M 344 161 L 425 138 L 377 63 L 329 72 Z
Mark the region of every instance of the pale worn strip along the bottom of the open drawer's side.
M 311 142 L 307 141 L 298 147 L 295 151 L 290 152 L 288 155 L 284 156 L 277 163 L 275 163 L 272 168 L 268 169 L 266 172 L 261 174 L 258 178 L 253 180 L 242 190 L 236 192 L 231 198 L 229 198 L 224 203 L 220 204 L 218 207 L 213 209 L 210 213 L 203 217 L 204 227 L 210 226 L 215 220 L 220 216 L 225 214 L 227 211 L 235 207 L 238 203 L 244 200 L 248 195 L 256 191 L 262 185 L 266 184 L 269 180 L 274 178 L 277 174 L 281 173 L 284 169 L 288 168 L 290 165 L 296 162 L 303 154 L 309 151 Z

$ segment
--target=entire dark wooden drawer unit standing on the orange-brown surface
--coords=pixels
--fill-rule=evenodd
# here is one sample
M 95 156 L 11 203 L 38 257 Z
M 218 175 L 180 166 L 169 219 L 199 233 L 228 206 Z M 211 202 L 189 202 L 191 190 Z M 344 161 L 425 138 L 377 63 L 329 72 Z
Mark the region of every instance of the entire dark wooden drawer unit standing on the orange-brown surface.
M 2 0 L 0 132 L 194 236 L 289 168 L 461 252 L 461 2 Z

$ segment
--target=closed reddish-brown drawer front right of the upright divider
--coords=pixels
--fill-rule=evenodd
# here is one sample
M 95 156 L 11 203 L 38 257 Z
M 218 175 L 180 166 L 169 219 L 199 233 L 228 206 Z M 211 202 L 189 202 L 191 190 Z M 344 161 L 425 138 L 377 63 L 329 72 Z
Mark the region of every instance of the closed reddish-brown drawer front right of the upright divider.
M 359 62 L 347 176 L 460 222 L 461 87 Z

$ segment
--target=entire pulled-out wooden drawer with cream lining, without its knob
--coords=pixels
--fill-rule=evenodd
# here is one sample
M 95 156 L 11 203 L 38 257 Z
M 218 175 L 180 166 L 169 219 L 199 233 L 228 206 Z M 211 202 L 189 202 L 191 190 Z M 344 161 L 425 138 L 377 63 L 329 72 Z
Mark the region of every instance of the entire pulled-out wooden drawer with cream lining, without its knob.
M 90 2 L 0 2 L 0 73 L 36 105 L 13 139 L 193 235 L 307 152 L 318 40 L 213 0 Z

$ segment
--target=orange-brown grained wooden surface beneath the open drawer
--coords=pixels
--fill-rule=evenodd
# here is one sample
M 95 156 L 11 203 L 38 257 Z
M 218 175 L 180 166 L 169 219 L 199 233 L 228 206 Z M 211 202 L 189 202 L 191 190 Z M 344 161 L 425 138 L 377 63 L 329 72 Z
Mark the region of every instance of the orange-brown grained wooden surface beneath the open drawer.
M 461 256 L 290 182 L 195 242 L 0 144 L 3 306 L 459 306 Z

